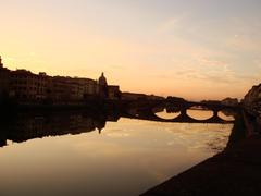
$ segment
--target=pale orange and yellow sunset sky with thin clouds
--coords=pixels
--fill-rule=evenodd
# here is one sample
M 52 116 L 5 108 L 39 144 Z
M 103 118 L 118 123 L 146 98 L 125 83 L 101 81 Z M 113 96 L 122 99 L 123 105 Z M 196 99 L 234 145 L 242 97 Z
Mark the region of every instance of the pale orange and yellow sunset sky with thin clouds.
M 11 70 L 98 78 L 123 91 L 241 98 L 261 78 L 260 0 L 0 1 Z

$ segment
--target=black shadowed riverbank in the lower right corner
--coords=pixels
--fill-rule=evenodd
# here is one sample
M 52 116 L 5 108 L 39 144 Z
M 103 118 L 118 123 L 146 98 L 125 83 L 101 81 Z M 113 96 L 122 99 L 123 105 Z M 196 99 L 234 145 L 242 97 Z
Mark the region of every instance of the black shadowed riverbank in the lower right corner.
M 226 149 L 153 187 L 142 196 L 261 195 L 260 135 L 246 138 L 237 119 Z

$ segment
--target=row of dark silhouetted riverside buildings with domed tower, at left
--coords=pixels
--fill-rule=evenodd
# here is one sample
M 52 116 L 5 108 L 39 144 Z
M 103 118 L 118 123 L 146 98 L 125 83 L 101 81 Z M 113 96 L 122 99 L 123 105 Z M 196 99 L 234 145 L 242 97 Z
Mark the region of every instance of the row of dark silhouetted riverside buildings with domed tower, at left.
M 10 71 L 3 68 L 0 57 L 0 97 L 7 95 L 20 102 L 67 103 L 85 101 L 97 96 L 116 99 L 119 86 L 109 86 L 102 73 L 98 81 L 91 78 L 49 76 L 44 72 L 34 74 L 27 70 Z

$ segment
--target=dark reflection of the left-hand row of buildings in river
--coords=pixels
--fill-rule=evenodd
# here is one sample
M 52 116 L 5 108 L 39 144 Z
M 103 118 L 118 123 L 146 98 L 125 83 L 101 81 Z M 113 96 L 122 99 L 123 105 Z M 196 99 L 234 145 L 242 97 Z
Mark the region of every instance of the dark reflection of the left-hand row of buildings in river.
M 29 115 L 20 114 L 10 122 L 1 123 L 0 147 L 7 146 L 7 140 L 15 143 L 26 142 L 47 136 L 76 135 L 101 130 L 107 121 L 117 121 L 115 114 L 86 113 L 52 113 Z

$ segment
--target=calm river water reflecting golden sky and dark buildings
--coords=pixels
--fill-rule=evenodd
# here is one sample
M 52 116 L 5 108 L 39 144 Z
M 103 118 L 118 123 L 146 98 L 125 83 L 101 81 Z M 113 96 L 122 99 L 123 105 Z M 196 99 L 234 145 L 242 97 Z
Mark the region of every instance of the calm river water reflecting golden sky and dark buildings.
M 139 195 L 221 151 L 232 126 L 22 115 L 0 127 L 0 195 Z

